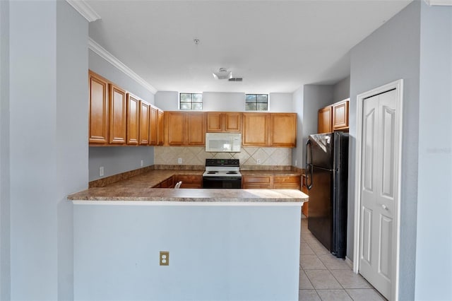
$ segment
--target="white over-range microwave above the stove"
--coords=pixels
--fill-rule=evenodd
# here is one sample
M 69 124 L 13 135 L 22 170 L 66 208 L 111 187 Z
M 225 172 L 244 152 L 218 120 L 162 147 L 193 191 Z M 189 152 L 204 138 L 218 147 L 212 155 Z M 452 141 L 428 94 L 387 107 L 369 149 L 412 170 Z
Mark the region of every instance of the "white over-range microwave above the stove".
M 206 133 L 206 151 L 214 153 L 239 153 L 242 134 Z

